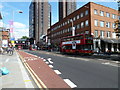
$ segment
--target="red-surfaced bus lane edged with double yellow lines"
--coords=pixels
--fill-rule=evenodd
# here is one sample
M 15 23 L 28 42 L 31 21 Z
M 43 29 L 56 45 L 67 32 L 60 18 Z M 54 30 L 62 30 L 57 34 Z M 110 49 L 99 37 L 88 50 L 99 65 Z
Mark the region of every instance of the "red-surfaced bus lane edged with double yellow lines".
M 20 58 L 39 88 L 69 88 L 40 57 L 18 51 Z

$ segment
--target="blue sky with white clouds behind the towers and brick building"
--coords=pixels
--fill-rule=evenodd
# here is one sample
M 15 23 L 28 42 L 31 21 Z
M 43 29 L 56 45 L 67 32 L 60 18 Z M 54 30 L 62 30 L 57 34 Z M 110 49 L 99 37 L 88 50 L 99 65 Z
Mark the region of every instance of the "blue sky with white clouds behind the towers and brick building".
M 117 10 L 117 0 L 77 0 L 77 9 L 89 1 Z M 9 28 L 9 21 L 13 20 L 13 31 L 16 39 L 21 38 L 22 36 L 29 37 L 30 2 L 31 0 L 0 0 L 0 12 L 3 16 L 3 19 L 0 21 L 0 26 Z M 52 24 L 54 24 L 58 21 L 58 2 L 57 0 L 51 0 L 49 3 L 52 7 Z M 22 11 L 23 13 L 19 13 L 19 11 Z

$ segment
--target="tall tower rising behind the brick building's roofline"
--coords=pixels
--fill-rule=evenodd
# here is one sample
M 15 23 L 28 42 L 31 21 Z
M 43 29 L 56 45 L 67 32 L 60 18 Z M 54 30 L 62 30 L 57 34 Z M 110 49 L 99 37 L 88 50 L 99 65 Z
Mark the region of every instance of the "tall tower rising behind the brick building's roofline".
M 76 10 L 76 0 L 59 0 L 59 21 Z

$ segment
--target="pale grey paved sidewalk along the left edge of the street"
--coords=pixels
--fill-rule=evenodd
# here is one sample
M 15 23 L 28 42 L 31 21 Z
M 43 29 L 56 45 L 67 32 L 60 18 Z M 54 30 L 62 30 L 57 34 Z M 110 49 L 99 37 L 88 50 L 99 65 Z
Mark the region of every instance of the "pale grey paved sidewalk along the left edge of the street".
M 0 89 L 2 88 L 34 88 L 32 79 L 22 65 L 16 51 L 12 56 L 0 54 L 0 68 L 6 67 L 9 74 L 0 76 Z

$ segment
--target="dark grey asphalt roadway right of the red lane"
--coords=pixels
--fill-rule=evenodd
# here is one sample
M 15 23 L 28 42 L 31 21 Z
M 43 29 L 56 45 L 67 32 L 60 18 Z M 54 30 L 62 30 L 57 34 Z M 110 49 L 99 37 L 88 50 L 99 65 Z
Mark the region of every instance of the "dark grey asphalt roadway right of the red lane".
M 45 60 L 60 77 L 76 88 L 118 88 L 118 66 L 94 58 L 70 57 L 44 51 L 26 51 Z

